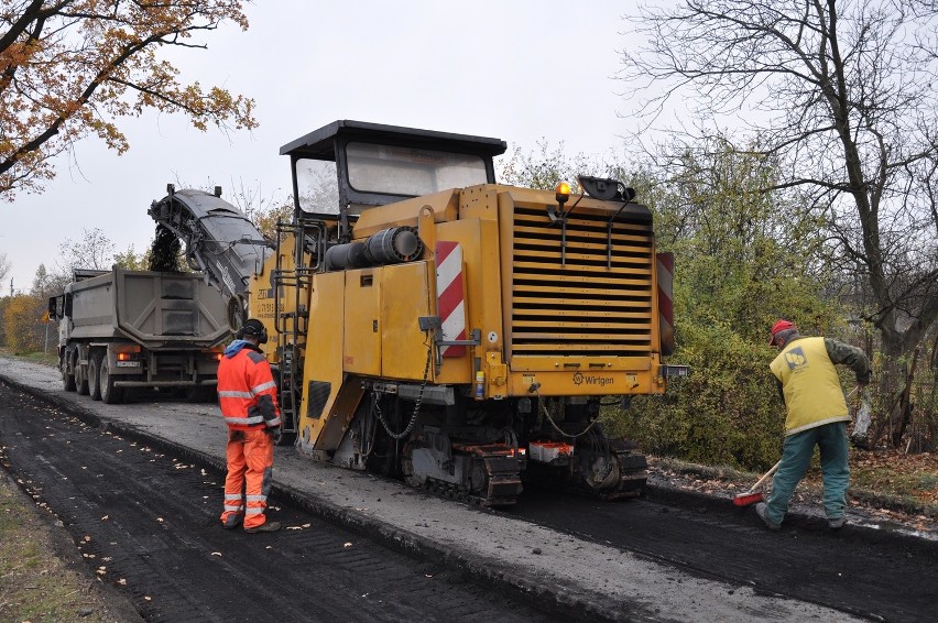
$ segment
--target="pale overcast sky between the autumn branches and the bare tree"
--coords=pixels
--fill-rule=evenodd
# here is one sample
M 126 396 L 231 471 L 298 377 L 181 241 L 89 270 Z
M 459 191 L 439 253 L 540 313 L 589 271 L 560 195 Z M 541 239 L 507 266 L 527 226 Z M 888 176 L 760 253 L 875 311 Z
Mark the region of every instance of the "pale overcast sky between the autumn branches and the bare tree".
M 0 203 L 4 295 L 53 270 L 67 239 L 100 229 L 124 251 L 153 238 L 150 203 L 166 184 L 260 187 L 286 198 L 281 145 L 337 119 L 494 136 L 525 152 L 539 140 L 570 156 L 622 153 L 632 121 L 614 79 L 633 0 L 276 0 L 248 4 L 250 29 L 177 54 L 186 77 L 254 98 L 260 128 L 203 133 L 181 116 L 122 121 L 130 151 L 96 139 L 63 160 L 42 195 Z

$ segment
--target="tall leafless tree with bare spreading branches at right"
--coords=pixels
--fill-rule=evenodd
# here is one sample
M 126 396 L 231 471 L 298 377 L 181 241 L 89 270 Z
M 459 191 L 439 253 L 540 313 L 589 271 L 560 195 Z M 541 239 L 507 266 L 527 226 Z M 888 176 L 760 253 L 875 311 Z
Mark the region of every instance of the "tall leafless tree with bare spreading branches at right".
M 938 318 L 938 4 L 690 0 L 642 9 L 621 78 L 661 119 L 690 89 L 706 134 L 723 116 L 782 163 L 859 269 L 894 381 Z M 893 386 L 902 396 L 902 387 Z M 899 405 L 906 407 L 907 405 Z

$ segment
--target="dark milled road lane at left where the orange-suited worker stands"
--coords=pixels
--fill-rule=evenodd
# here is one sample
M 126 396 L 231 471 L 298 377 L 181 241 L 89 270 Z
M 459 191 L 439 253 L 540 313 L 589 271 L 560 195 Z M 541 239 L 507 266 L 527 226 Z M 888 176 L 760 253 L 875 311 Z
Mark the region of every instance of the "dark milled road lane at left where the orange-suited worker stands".
M 286 529 L 218 520 L 222 479 L 0 383 L 0 462 L 145 621 L 545 621 L 433 561 L 279 505 Z

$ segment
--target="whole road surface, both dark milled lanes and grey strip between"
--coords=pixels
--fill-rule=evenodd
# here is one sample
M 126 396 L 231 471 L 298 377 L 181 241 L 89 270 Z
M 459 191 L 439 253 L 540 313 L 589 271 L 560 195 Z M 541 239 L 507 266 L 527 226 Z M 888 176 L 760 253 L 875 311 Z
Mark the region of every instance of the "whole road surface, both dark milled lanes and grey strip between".
M 0 378 L 57 405 L 3 390 L 3 462 L 43 500 L 65 488 L 50 504 L 69 527 L 89 526 L 70 528 L 89 564 L 132 591 L 149 620 L 935 620 L 935 542 L 831 532 L 800 513 L 771 533 L 751 509 L 659 488 L 618 503 L 527 490 L 516 507 L 483 512 L 284 447 L 272 516 L 298 529 L 232 534 L 216 525 L 217 406 L 102 405 L 63 392 L 54 370 L 2 358 Z M 10 422 L 35 416 L 42 425 L 28 431 Z M 124 438 L 85 424 L 95 417 Z M 91 449 L 61 464 L 76 445 Z M 131 456 L 139 464 L 123 466 Z M 264 610 L 250 614 L 244 602 Z

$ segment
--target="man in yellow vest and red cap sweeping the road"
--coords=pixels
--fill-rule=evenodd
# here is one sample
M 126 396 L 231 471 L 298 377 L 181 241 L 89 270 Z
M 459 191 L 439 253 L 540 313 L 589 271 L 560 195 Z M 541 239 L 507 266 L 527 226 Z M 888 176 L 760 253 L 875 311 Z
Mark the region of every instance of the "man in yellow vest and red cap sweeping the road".
M 824 507 L 828 525 L 844 525 L 847 487 L 850 484 L 847 424 L 850 409 L 840 386 L 836 364 L 849 365 L 857 383 L 870 382 L 870 360 L 859 348 L 830 338 L 803 337 L 789 320 L 772 327 L 779 353 L 770 369 L 787 409 L 782 461 L 772 480 L 772 493 L 755 512 L 770 529 L 782 527 L 788 500 L 807 473 L 815 446 L 820 450 Z

